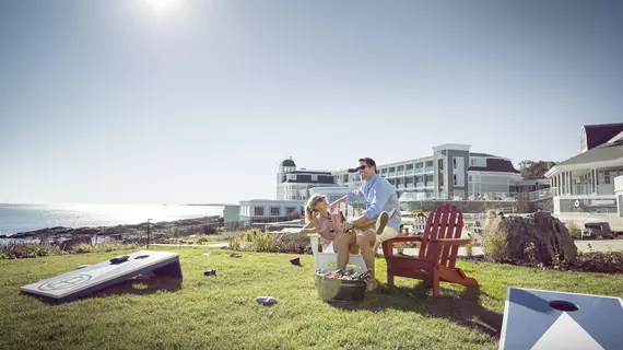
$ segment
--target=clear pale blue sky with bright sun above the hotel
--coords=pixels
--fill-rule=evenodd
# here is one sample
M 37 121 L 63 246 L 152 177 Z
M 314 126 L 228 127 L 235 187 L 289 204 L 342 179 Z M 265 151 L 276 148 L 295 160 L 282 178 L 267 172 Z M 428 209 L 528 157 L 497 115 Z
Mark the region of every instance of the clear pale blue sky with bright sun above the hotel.
M 564 161 L 623 121 L 621 1 L 0 1 L 0 202 L 274 198 L 443 143 Z

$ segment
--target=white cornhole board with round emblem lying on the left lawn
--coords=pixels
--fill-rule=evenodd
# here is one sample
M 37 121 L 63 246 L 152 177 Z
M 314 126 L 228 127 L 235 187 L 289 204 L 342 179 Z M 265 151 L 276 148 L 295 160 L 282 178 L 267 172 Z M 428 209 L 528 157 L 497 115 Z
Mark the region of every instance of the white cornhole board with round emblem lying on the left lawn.
M 66 302 L 148 272 L 181 279 L 181 266 L 177 253 L 140 250 L 128 255 L 130 258 L 125 262 L 111 264 L 106 260 L 26 284 L 22 287 L 21 292 Z

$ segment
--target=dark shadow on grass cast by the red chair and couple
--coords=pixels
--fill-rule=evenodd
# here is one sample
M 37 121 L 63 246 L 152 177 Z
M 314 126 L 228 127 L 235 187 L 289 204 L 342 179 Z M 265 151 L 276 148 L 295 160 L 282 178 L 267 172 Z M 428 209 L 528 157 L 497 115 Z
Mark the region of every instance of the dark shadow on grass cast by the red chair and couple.
M 481 292 L 478 285 L 465 289 L 462 292 L 442 289 L 442 293 L 437 299 L 430 296 L 431 288 L 424 282 L 415 284 L 414 288 L 379 285 L 379 291 L 368 293 L 363 302 L 327 303 L 345 311 L 377 312 L 392 308 L 428 317 L 447 318 L 499 338 L 503 315 L 480 304 L 480 296 L 486 294 Z

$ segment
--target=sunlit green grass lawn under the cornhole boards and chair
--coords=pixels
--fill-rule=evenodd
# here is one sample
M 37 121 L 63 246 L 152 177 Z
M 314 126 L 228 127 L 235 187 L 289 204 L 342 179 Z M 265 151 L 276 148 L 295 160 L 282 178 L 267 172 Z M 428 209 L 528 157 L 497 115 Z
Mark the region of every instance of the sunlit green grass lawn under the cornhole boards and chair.
M 397 278 L 397 288 L 344 307 L 317 299 L 313 256 L 299 268 L 286 254 L 157 250 L 180 254 L 181 288 L 165 278 L 133 281 L 60 305 L 20 287 L 120 253 L 0 260 L 0 349 L 497 349 L 509 285 L 623 296 L 623 276 L 459 261 L 480 290 L 442 283 L 434 300 L 420 281 Z M 210 268 L 215 277 L 202 275 Z M 384 282 L 385 260 L 377 271 Z M 261 306 L 260 295 L 279 304 Z

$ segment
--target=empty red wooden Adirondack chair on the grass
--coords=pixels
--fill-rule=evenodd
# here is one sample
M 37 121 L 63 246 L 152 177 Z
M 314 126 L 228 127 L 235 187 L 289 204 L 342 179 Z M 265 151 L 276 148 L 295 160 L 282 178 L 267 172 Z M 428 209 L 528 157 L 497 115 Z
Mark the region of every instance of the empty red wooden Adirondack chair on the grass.
M 398 236 L 383 244 L 387 261 L 387 284 L 393 285 L 393 277 L 421 279 L 433 285 L 433 298 L 439 296 L 439 282 L 475 285 L 478 281 L 455 267 L 459 246 L 471 238 L 461 238 L 463 214 L 456 206 L 446 203 L 431 212 L 422 236 Z M 393 244 L 421 242 L 418 257 L 393 255 Z

